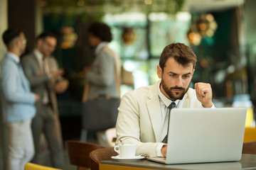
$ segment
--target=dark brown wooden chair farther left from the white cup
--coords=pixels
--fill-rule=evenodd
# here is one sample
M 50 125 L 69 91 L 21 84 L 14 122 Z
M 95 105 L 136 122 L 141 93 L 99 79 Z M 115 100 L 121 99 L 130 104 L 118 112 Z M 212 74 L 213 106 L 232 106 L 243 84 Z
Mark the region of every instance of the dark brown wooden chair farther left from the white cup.
M 90 169 L 90 152 L 103 148 L 100 145 L 80 142 L 78 140 L 67 140 L 65 143 L 70 164 L 78 166 L 78 170 Z

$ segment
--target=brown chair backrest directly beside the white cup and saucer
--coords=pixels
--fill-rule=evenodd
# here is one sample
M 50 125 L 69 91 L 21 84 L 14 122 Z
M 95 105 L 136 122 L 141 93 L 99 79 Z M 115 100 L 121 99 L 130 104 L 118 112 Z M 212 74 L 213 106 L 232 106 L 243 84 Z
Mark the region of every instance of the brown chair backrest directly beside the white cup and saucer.
M 114 152 L 114 147 L 105 147 L 90 152 L 91 170 L 98 170 L 100 162 L 102 160 L 110 160 L 112 156 L 117 156 L 117 152 Z

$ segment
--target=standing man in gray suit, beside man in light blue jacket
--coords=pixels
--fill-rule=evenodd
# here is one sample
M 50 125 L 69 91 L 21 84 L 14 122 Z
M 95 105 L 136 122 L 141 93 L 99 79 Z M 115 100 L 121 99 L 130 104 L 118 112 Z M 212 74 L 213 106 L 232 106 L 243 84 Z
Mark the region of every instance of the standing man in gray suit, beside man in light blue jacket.
M 23 70 L 31 83 L 31 90 L 42 98 L 36 104 L 37 113 L 32 121 L 33 139 L 36 154 L 34 163 L 40 164 L 38 154 L 40 153 L 41 132 L 46 136 L 50 148 L 50 158 L 55 168 L 63 168 L 63 140 L 58 118 L 57 93 L 63 93 L 68 88 L 68 81 L 63 79 L 63 69 L 51 53 L 55 50 L 56 37 L 51 32 L 44 32 L 36 38 L 36 49 L 23 57 L 21 64 Z

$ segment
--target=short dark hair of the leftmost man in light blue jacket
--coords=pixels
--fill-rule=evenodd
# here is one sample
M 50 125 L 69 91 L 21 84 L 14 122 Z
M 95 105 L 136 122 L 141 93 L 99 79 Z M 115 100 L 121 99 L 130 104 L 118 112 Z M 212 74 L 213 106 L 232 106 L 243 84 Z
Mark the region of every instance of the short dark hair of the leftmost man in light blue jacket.
M 3 33 L 3 40 L 6 47 L 10 46 L 10 43 L 14 38 L 17 38 L 23 33 L 23 31 L 19 28 L 9 28 Z

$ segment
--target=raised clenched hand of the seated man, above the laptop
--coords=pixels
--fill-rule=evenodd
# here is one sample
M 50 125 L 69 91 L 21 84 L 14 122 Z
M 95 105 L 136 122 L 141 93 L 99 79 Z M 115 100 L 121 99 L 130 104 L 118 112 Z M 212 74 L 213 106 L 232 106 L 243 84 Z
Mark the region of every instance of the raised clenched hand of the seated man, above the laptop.
M 213 106 L 213 92 L 210 87 L 210 84 L 206 83 L 196 83 L 196 97 L 200 101 L 204 108 L 211 108 Z

